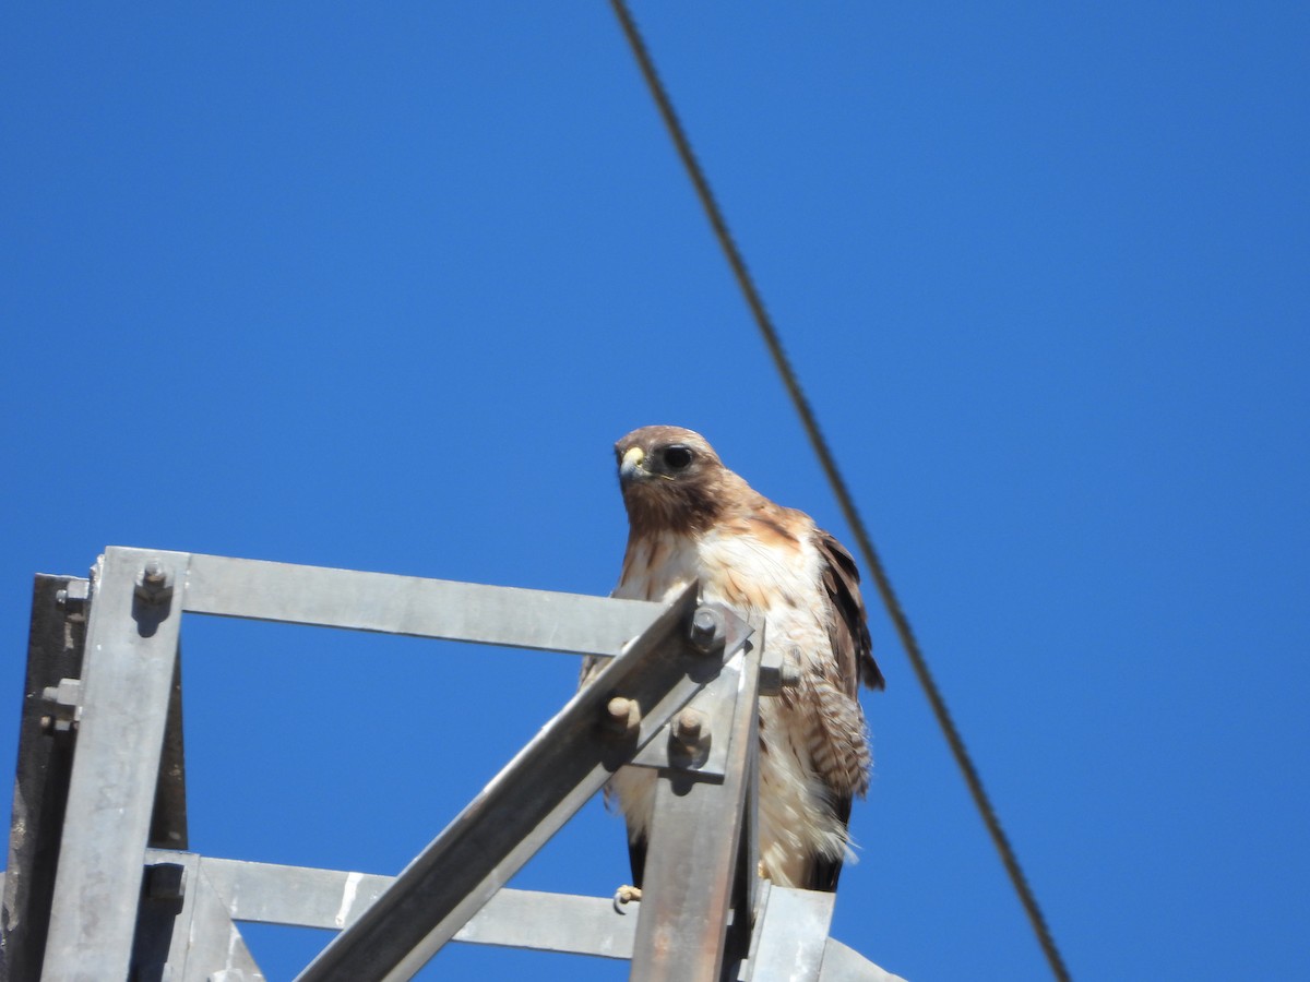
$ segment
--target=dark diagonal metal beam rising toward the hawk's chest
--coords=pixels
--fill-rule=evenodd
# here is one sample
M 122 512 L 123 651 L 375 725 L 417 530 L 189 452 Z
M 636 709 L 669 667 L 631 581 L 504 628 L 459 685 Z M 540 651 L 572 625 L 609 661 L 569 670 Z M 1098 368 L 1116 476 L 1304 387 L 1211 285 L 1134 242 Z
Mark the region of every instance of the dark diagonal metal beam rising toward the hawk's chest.
M 696 584 L 496 775 L 464 812 L 299 977 L 407 979 L 608 780 L 722 670 L 745 642 L 731 614 L 727 646 L 690 649 Z M 722 644 L 722 642 L 720 642 Z M 604 727 L 616 697 L 641 707 L 635 732 Z

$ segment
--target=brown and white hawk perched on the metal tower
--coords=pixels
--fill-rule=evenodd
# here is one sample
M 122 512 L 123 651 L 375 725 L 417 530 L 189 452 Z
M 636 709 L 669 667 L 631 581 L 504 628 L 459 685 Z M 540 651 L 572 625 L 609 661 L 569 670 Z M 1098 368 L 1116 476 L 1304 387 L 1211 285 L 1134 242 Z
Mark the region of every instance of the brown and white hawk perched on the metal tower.
M 799 683 L 760 700 L 760 872 L 836 889 L 850 803 L 869 787 L 859 682 L 883 687 L 854 560 L 808 515 L 724 467 L 700 433 L 643 427 L 614 453 L 629 521 L 614 596 L 663 601 L 698 579 L 702 600 L 764 615 L 765 643 L 796 661 Z M 625 767 L 610 782 L 638 886 L 655 779 Z

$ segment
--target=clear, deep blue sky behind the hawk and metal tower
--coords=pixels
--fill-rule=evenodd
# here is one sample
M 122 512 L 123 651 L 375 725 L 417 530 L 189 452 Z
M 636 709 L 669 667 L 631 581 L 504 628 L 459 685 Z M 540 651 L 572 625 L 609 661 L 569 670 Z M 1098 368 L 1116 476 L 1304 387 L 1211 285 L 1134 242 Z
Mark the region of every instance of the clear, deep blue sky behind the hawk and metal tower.
M 1303 972 L 1305 4 L 635 13 L 1073 974 Z M 849 541 L 600 0 L 9 4 L 0 38 L 0 759 L 30 577 L 106 545 L 605 593 L 610 444 L 647 423 Z M 872 627 L 834 934 L 1041 979 Z M 576 672 L 185 647 L 195 848 L 369 872 Z M 622 838 L 593 804 L 516 885 L 609 893 Z M 248 936 L 274 979 L 325 940 Z M 516 970 L 625 966 L 428 972 Z

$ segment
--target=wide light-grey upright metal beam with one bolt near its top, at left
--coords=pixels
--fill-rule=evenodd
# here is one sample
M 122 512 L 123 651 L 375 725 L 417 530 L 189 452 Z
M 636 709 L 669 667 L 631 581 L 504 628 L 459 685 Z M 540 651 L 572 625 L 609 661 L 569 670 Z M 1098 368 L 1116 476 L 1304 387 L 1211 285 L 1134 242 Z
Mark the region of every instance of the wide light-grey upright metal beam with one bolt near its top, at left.
M 186 554 L 109 549 L 92 594 L 81 723 L 43 977 L 126 978 L 168 716 Z

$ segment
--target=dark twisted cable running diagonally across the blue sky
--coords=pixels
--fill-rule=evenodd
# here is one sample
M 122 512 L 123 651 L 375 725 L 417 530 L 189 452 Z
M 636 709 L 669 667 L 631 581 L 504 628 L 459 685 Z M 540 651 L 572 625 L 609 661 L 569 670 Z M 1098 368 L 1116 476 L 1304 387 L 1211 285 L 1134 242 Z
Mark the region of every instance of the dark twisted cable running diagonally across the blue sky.
M 951 748 L 951 754 L 955 757 L 955 762 L 959 765 L 960 771 L 964 775 L 964 783 L 968 786 L 969 793 L 973 796 L 973 804 L 982 816 L 982 824 L 986 826 L 988 834 L 992 837 L 992 843 L 996 846 L 996 850 L 1001 856 L 1001 863 L 1005 865 L 1005 869 L 1010 876 L 1010 882 L 1014 885 L 1015 893 L 1018 893 L 1019 901 L 1023 903 L 1023 909 L 1028 915 L 1028 920 L 1038 936 L 1038 941 L 1041 944 L 1041 951 L 1047 956 L 1047 962 L 1051 965 L 1051 972 L 1057 979 L 1060 979 L 1060 982 L 1068 982 L 1069 970 L 1065 968 L 1064 958 L 1060 956 L 1060 949 L 1056 947 L 1055 937 L 1051 936 L 1051 930 L 1047 927 L 1045 918 L 1041 915 L 1041 909 L 1038 906 L 1038 898 L 1032 893 L 1032 888 L 1028 885 L 1027 879 L 1023 876 L 1023 869 L 1019 867 L 1018 856 L 1015 855 L 1010 841 L 1006 838 L 1005 830 L 1001 827 L 1001 820 L 997 816 L 996 809 L 992 807 L 992 800 L 988 797 L 988 793 L 982 787 L 982 779 L 979 776 L 977 767 L 973 766 L 973 759 L 969 757 L 969 752 L 964 746 L 964 740 L 951 718 L 950 710 L 946 707 L 946 700 L 942 698 L 942 693 L 937 687 L 937 682 L 933 681 L 933 674 L 929 670 L 924 652 L 920 649 L 918 642 L 914 638 L 914 631 L 910 627 L 909 618 L 901 609 L 900 601 L 896 598 L 896 592 L 892 589 L 891 579 L 887 576 L 882 559 L 878 558 L 878 551 L 874 549 L 872 539 L 870 538 L 859 513 L 855 511 L 854 498 L 852 496 L 845 479 L 841 477 L 841 473 L 837 470 L 837 461 L 833 458 L 832 450 L 828 448 L 828 443 L 824 440 L 823 433 L 819 429 L 819 420 L 810 406 L 810 401 L 800 389 L 800 382 L 796 378 L 796 373 L 793 369 L 791 363 L 787 360 L 786 352 L 782 350 L 782 342 L 778 339 L 778 331 L 773 326 L 773 321 L 769 318 L 768 312 L 764 309 L 764 301 L 760 297 L 760 292 L 755 287 L 755 282 L 751 279 L 751 274 L 745 268 L 745 261 L 741 258 L 741 253 L 732 241 L 732 233 L 728 230 L 727 221 L 723 219 L 723 212 L 719 209 L 713 191 L 710 191 L 710 185 L 705 178 L 705 172 L 701 170 L 701 165 L 696 160 L 692 144 L 686 139 L 686 132 L 683 130 L 683 124 L 679 122 L 677 114 L 673 111 L 673 103 L 669 100 L 663 82 L 660 82 L 659 75 L 655 71 L 655 63 L 651 60 L 646 43 L 642 41 L 641 31 L 637 29 L 637 24 L 633 21 L 633 16 L 624 0 L 609 1 L 610 7 L 614 9 L 614 14 L 618 17 L 620 25 L 624 29 L 624 34 L 626 35 L 627 43 L 633 50 L 633 55 L 641 67 L 642 76 L 646 79 L 646 85 L 650 88 L 651 96 L 655 98 L 655 105 L 659 107 L 660 115 L 664 118 L 664 124 L 668 127 L 669 136 L 673 139 L 677 153 L 683 158 L 686 174 L 692 179 L 692 185 L 696 187 L 696 194 L 701 199 L 701 206 L 705 208 L 706 217 L 709 217 L 710 225 L 714 227 L 714 234 L 718 237 L 719 245 L 723 247 L 723 254 L 727 257 L 728 264 L 732 267 L 732 274 L 736 276 L 738 285 L 741 288 L 741 293 L 751 308 L 751 313 L 755 314 L 755 322 L 760 327 L 764 343 L 768 346 L 769 354 L 773 356 L 773 363 L 778 369 L 778 374 L 782 377 L 782 382 L 787 388 L 787 394 L 791 397 L 791 402 L 800 416 L 806 433 L 810 436 L 810 444 L 819 456 L 819 462 L 823 465 L 824 474 L 828 475 L 828 483 L 832 484 L 833 494 L 837 496 L 837 503 L 841 505 L 842 515 L 846 517 L 846 524 L 850 525 L 855 534 L 859 551 L 865 558 L 865 563 L 867 564 L 870 573 L 872 573 L 874 583 L 878 585 L 878 593 L 883 598 L 887 614 L 895 625 L 901 646 L 909 656 L 910 666 L 914 669 L 914 674 L 918 676 L 918 681 L 924 687 L 925 695 L 927 695 L 929 704 L 933 707 L 933 715 L 937 716 L 937 723 L 941 725 L 942 735 L 946 737 L 946 742 Z

